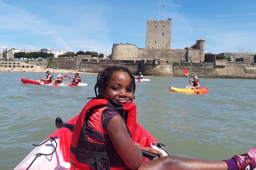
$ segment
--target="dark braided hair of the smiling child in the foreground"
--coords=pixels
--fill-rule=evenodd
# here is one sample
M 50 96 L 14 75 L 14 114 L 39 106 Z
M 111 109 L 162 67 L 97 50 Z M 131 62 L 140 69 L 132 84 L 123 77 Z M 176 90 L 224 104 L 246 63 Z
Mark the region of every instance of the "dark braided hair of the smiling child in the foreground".
M 133 87 L 133 95 L 134 95 L 136 85 L 135 85 L 135 77 L 132 75 L 132 72 L 126 67 L 114 65 L 114 66 L 108 66 L 102 72 L 98 73 L 97 82 L 94 86 L 96 98 L 101 98 L 100 95 L 102 94 L 102 91 L 104 90 L 104 88 L 106 88 L 106 86 L 108 86 L 108 82 L 112 74 L 116 71 L 127 72 L 130 75 L 130 78 L 132 79 L 131 85 Z M 98 88 L 98 94 L 97 94 L 97 88 Z

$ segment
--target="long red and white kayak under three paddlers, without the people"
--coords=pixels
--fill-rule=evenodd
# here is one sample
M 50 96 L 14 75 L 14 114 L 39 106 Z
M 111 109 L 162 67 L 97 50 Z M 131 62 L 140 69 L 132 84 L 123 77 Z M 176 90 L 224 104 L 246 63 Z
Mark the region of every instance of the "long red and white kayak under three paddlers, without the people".
M 38 84 L 38 85 L 46 85 L 46 86 L 88 86 L 87 83 L 52 83 L 52 82 L 48 82 L 48 81 L 41 81 L 38 82 L 36 80 L 31 80 L 31 79 L 27 79 L 27 78 L 21 78 L 20 79 L 22 81 L 22 83 L 24 84 Z

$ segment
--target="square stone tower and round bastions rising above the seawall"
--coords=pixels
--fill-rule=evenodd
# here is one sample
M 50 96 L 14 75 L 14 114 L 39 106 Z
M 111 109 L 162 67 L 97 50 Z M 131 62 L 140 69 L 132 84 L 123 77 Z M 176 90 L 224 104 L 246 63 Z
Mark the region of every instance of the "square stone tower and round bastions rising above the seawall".
M 196 44 L 184 49 L 171 49 L 172 19 L 147 20 L 145 49 L 130 43 L 113 44 L 111 59 L 164 59 L 167 62 L 186 61 L 204 62 L 204 39 L 196 40 Z

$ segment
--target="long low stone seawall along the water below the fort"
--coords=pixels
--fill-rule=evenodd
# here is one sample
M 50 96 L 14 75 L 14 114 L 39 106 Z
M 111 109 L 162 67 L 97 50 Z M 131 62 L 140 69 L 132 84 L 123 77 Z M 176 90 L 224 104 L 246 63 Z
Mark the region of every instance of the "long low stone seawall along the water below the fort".
M 47 64 L 46 64 L 47 63 Z M 58 66 L 60 69 L 85 70 L 97 73 L 110 65 L 126 66 L 132 74 L 138 75 L 142 72 L 145 76 L 174 76 L 183 77 L 183 69 L 186 68 L 190 76 L 205 78 L 244 78 L 256 79 L 256 63 L 215 61 L 214 63 L 188 63 L 188 62 L 166 62 L 166 60 L 114 60 L 114 59 L 87 59 L 74 58 L 52 58 L 46 60 L 31 60 L 28 64 L 40 67 Z

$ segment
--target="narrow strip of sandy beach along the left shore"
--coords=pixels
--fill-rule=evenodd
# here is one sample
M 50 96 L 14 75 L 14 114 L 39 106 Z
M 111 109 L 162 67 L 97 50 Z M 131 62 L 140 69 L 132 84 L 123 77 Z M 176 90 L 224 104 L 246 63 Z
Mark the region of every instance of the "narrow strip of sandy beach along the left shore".
M 78 71 L 78 70 L 66 70 L 66 69 L 55 69 L 55 68 L 41 68 L 40 66 L 36 66 L 34 68 L 7 68 L 7 67 L 1 67 L 0 71 L 14 71 L 14 72 L 46 72 L 49 70 L 51 73 L 76 73 L 79 74 L 98 74 L 98 73 L 92 73 L 92 72 L 86 72 L 86 71 Z

